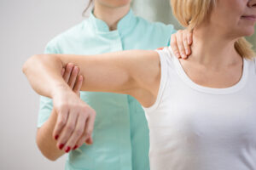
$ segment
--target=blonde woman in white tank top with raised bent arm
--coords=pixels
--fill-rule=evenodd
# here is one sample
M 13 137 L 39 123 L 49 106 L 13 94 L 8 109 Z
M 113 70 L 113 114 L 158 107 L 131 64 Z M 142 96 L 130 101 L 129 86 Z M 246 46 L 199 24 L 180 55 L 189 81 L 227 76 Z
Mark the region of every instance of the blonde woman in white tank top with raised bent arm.
M 59 114 L 58 144 L 80 137 L 70 127 L 92 131 L 93 111 L 61 78 L 73 62 L 82 90 L 131 94 L 143 105 L 152 170 L 255 170 L 256 59 L 243 37 L 253 34 L 256 0 L 171 3 L 177 20 L 194 29 L 189 59 L 176 59 L 170 48 L 28 59 L 23 71 L 32 88 L 52 98 Z

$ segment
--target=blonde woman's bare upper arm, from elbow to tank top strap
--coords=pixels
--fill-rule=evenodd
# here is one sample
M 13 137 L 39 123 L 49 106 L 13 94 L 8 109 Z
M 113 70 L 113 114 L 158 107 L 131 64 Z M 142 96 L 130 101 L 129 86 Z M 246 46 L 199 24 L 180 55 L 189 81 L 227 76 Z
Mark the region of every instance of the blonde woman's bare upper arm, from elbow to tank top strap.
M 98 55 L 57 54 L 62 65 L 78 65 L 84 76 L 81 90 L 131 94 L 154 94 L 160 80 L 160 59 L 157 52 L 121 51 Z M 157 88 L 157 89 L 156 89 Z M 156 92 L 157 93 L 157 92 Z M 145 94 L 145 93 L 144 93 Z

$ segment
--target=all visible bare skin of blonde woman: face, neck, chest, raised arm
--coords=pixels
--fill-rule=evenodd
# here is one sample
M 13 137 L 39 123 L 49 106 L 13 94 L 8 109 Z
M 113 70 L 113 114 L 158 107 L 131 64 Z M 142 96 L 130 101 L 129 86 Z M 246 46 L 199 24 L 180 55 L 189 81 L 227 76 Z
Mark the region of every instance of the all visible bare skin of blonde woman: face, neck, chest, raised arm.
M 213 8 L 208 20 L 195 28 L 193 54 L 189 59 L 181 60 L 183 69 L 194 82 L 211 88 L 227 88 L 239 81 L 242 59 L 236 53 L 234 42 L 241 35 L 253 34 L 255 19 L 248 16 L 256 15 L 255 4 L 256 0 L 218 1 L 218 8 Z M 79 129 L 75 127 L 75 120 L 86 117 L 89 120 L 86 131 L 91 133 L 91 116 L 95 116 L 90 106 L 79 99 L 61 77 L 62 67 L 69 62 L 78 65 L 80 73 L 86 77 L 81 90 L 130 94 L 144 107 L 154 104 L 161 76 L 160 59 L 154 51 L 133 50 L 90 56 L 35 55 L 26 61 L 23 72 L 38 94 L 54 101 L 58 113 L 54 133 L 61 133 L 57 144 L 73 147 L 80 137 L 73 131 Z

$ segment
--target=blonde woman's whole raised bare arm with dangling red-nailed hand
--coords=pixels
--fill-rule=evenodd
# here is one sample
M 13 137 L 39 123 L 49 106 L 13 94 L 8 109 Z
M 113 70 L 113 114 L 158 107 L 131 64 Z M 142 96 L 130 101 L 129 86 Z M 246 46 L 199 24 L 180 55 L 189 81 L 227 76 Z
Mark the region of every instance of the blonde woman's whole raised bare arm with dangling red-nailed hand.
M 145 107 L 156 99 L 160 84 L 160 58 L 154 51 L 33 56 L 26 61 L 23 71 L 38 94 L 53 99 L 58 114 L 53 135 L 59 136 L 57 146 L 60 149 L 73 148 L 82 134 L 84 139 L 88 139 L 95 117 L 90 106 L 79 99 L 61 77 L 62 67 L 70 62 L 78 65 L 80 74 L 84 76 L 81 87 L 84 91 L 131 94 Z

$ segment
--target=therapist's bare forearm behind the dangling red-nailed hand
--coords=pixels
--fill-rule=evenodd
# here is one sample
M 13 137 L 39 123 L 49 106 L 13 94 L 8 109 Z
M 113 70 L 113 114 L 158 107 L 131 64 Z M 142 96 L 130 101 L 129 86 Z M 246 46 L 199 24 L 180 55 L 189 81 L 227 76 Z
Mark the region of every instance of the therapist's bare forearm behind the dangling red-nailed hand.
M 49 119 L 44 125 L 38 128 L 37 144 L 42 154 L 51 161 L 55 161 L 65 154 L 64 150 L 57 148 L 57 141 L 53 139 L 52 134 L 57 120 L 57 113 L 52 110 Z

